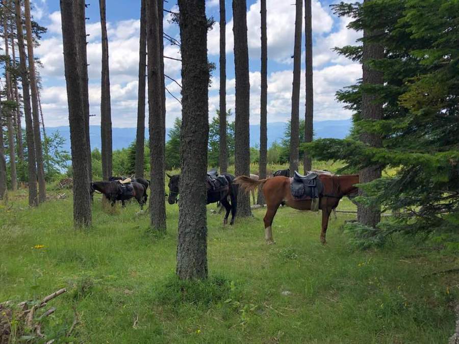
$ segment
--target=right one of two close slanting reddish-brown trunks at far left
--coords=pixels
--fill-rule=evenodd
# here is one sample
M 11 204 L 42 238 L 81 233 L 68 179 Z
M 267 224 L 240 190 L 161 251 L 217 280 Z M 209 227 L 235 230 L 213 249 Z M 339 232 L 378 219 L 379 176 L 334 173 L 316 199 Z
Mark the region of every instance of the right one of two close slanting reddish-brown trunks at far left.
M 27 34 L 27 53 L 29 58 L 29 78 L 32 91 L 32 116 L 34 125 L 35 156 L 37 159 L 38 202 L 46 201 L 46 183 L 43 166 L 43 149 L 41 147 L 40 119 L 38 114 L 38 88 L 35 73 L 34 44 L 32 40 L 32 22 L 30 18 L 30 1 L 24 0 L 25 32 Z

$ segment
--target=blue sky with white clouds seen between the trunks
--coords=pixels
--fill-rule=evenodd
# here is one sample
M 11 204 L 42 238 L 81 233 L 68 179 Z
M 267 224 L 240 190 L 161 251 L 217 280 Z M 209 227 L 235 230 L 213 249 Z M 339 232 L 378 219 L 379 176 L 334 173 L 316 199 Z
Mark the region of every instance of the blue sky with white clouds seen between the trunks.
M 86 31 L 89 102 L 91 125 L 100 124 L 101 43 L 100 17 L 97 0 L 86 0 Z M 312 0 L 314 120 L 350 118 L 351 113 L 335 99 L 335 92 L 352 85 L 362 77 L 360 64 L 338 56 L 335 46 L 355 44 L 361 33 L 349 30 L 349 18 L 336 17 L 329 7 L 336 0 Z M 61 15 L 57 0 L 33 0 L 33 16 L 48 32 L 43 35 L 35 56 L 43 63 L 41 102 L 45 125 L 68 125 L 67 95 L 64 77 Z M 107 30 L 111 84 L 112 125 L 135 127 L 137 120 L 140 0 L 106 0 Z M 226 1 L 226 108 L 234 114 L 235 79 L 233 54 L 232 2 Z M 164 3 L 167 10 L 178 11 L 175 0 Z M 215 24 L 208 33 L 208 58 L 217 69 L 209 88 L 209 118 L 216 116 L 219 104 L 219 0 L 206 0 L 206 12 Z M 304 15 L 304 9 L 303 9 Z M 267 0 L 268 36 L 268 122 L 287 121 L 291 114 L 293 80 L 294 1 Z M 247 28 L 250 69 L 250 123 L 260 122 L 260 0 L 247 1 Z M 302 23 L 302 59 L 300 116 L 304 116 L 304 17 Z M 165 13 L 164 32 L 180 40 L 179 28 Z M 180 49 L 168 41 L 164 55 L 180 59 Z M 165 59 L 165 73 L 181 83 L 181 62 Z M 166 88 L 180 98 L 180 87 L 167 80 Z M 166 127 L 181 116 L 181 104 L 166 92 Z M 231 118 L 230 118 L 231 120 Z M 146 120 L 147 124 L 147 120 Z

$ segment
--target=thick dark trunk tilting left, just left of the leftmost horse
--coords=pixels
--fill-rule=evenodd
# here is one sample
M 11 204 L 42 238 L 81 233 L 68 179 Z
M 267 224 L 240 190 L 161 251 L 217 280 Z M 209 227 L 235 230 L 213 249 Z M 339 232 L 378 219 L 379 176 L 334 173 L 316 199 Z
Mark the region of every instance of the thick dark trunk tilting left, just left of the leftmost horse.
M 73 223 L 75 227 L 81 227 L 91 224 L 91 198 L 88 183 L 86 119 L 79 75 L 78 38 L 74 25 L 77 15 L 74 13 L 72 3 L 73 0 L 60 0 L 73 167 Z

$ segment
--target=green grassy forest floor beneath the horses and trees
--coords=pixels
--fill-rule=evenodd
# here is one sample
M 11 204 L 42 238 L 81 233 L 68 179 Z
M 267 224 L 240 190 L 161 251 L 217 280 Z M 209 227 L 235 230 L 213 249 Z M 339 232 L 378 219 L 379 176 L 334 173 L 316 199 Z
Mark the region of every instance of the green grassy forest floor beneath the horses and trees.
M 352 215 L 331 220 L 322 246 L 320 214 L 281 208 L 277 244 L 266 246 L 264 209 L 233 227 L 208 211 L 210 278 L 189 283 L 174 276 L 176 205 L 162 238 L 134 202 L 109 215 L 99 199 L 92 227 L 75 231 L 71 200 L 48 194 L 37 209 L 24 191 L 0 206 L 0 301 L 68 289 L 52 301 L 48 338 L 63 341 L 74 310 L 75 341 L 90 343 L 437 343 L 453 332 L 459 280 L 423 275 L 455 267 L 457 255 L 404 236 L 354 251 L 340 229 Z

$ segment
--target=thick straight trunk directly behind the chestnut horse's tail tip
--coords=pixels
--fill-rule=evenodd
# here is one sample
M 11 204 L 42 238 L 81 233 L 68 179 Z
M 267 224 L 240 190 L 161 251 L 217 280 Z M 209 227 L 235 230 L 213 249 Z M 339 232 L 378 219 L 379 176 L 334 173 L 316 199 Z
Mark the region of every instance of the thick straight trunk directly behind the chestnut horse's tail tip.
M 233 0 L 234 65 L 236 76 L 235 174 L 250 175 L 250 81 L 247 46 L 246 0 Z M 238 195 L 238 217 L 251 216 L 250 197 Z

